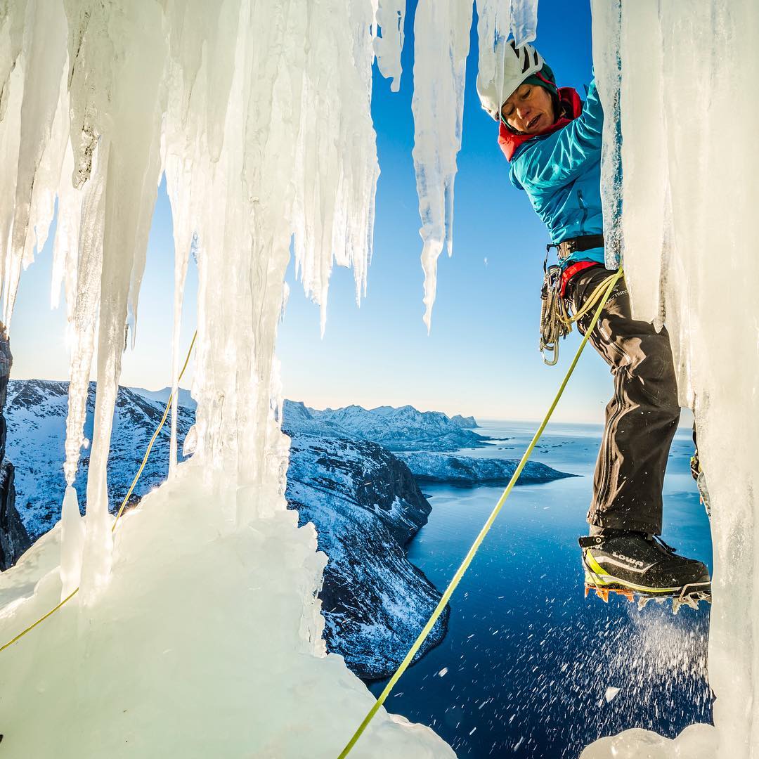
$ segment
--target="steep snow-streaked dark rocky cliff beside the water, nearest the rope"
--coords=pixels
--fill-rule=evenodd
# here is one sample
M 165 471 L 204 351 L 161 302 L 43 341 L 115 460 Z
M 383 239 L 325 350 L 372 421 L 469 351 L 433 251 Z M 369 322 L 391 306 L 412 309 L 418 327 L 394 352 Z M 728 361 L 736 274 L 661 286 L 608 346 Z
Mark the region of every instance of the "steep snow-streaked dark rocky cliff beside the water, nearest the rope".
M 402 462 L 373 442 L 292 437 L 285 496 L 329 556 L 320 593 L 328 650 L 364 679 L 397 669 L 440 600 L 405 546 L 431 507 Z M 417 659 L 446 634 L 448 609 Z

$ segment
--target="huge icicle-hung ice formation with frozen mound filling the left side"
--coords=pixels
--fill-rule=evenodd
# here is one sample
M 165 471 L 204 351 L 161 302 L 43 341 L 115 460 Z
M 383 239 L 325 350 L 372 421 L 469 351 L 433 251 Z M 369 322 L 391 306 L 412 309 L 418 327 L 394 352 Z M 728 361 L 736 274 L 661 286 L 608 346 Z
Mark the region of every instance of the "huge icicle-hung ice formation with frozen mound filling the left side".
M 62 287 L 70 485 L 93 366 L 98 387 L 87 516 L 73 488 L 61 493 L 61 528 L 0 577 L 4 641 L 80 587 L 2 653 L 0 682 L 14 694 L 2 704 L 9 757 L 335 756 L 373 703 L 325 654 L 325 559 L 313 528 L 298 529 L 286 510 L 274 344 L 291 249 L 322 326 L 334 263 L 352 266 L 357 298 L 364 291 L 379 172 L 371 67 L 376 50 L 397 87 L 404 5 L 0 3 L 2 319 L 11 323 L 21 272 L 57 209 L 52 301 Z M 491 33 L 505 36 L 512 20 L 534 33 L 534 0 L 480 5 Z M 471 12 L 469 0 L 417 9 L 428 323 L 436 255 L 450 250 Z M 197 442 L 181 464 L 172 443 L 172 476 L 112 533 L 106 459 L 162 176 L 176 254 L 175 387 L 187 257 L 198 260 Z M 353 755 L 453 752 L 380 710 Z

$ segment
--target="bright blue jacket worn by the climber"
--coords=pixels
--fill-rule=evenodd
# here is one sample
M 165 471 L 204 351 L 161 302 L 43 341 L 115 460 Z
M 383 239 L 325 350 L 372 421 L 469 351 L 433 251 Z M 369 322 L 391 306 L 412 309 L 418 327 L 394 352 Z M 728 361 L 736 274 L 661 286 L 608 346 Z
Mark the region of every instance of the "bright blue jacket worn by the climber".
M 512 184 L 527 192 L 555 243 L 603 233 L 601 141 L 603 109 L 595 80 L 581 113 L 552 134 L 536 135 L 518 146 L 509 172 Z M 562 261 L 603 263 L 603 247 Z

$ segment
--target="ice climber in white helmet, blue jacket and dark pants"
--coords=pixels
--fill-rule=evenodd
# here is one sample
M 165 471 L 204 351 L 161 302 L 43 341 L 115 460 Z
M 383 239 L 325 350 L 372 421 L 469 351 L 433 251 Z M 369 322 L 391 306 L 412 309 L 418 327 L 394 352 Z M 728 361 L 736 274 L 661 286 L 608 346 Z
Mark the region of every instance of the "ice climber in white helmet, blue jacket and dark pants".
M 595 81 L 583 103 L 572 88 L 556 87 L 533 46 L 512 42 L 505 46 L 502 87 L 478 79 L 477 91 L 499 122 L 512 184 L 527 192 L 557 249 L 557 298 L 576 314 L 613 274 L 604 266 L 603 110 Z M 592 317 L 593 310 L 578 320 L 583 335 Z M 611 367 L 614 395 L 587 514 L 590 536 L 579 540 L 586 588 L 605 599 L 617 591 L 692 605 L 710 593 L 709 572 L 659 537 L 664 470 L 680 417 L 669 335 L 631 317 L 619 279 L 589 340 Z

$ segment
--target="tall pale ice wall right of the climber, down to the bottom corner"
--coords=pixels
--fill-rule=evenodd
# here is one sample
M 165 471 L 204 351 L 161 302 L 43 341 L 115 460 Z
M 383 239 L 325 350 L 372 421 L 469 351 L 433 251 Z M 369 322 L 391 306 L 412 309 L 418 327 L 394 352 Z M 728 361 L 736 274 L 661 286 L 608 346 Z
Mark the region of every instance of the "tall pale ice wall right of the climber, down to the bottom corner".
M 619 79 L 622 238 L 635 316 L 666 326 L 712 500 L 714 722 L 598 757 L 759 757 L 759 6 L 594 0 L 602 92 Z M 609 54 L 608 51 L 611 51 Z M 619 61 L 619 74 L 618 64 Z M 605 104 L 606 107 L 606 104 Z M 607 143 L 612 161 L 616 146 Z

